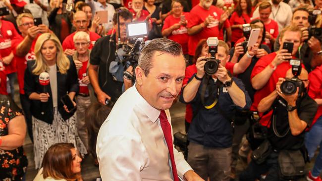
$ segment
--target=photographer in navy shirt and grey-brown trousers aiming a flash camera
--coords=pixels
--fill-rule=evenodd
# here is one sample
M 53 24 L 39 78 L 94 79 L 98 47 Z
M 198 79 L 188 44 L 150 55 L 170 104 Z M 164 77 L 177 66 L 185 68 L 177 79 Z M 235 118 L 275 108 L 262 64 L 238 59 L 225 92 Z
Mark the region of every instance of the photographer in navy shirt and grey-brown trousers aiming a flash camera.
M 211 52 L 212 48 L 214 46 L 210 48 Z M 228 45 L 219 41 L 217 49 L 215 56 L 220 60 L 218 70 L 212 75 L 205 75 L 205 63 L 214 60 L 205 61 L 206 56 L 199 57 L 197 73 L 183 88 L 180 101 L 190 103 L 194 115 L 188 132 L 188 163 L 204 180 L 210 177 L 211 181 L 229 181 L 232 144 L 230 115 L 236 109 L 248 109 L 251 100 L 241 81 L 231 78 L 225 68 L 229 60 Z

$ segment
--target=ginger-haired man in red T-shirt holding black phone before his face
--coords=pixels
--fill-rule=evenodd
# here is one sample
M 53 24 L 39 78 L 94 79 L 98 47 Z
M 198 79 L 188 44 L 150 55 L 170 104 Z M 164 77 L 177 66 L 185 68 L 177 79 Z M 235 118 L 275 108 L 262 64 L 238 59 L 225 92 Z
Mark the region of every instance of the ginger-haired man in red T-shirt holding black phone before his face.
M 287 49 L 280 49 L 260 58 L 251 74 L 251 83 L 255 90 L 254 101 L 251 110 L 257 110 L 258 103 L 262 98 L 268 96 L 270 92 L 275 90 L 275 85 L 278 78 L 285 77 L 285 72 L 291 68 L 289 59 L 291 59 L 297 52 L 301 45 L 302 31 L 296 26 L 288 26 L 280 33 L 279 42 L 281 45 L 285 43 L 292 44 L 292 53 Z M 263 116 L 261 123 L 266 125 L 270 114 Z

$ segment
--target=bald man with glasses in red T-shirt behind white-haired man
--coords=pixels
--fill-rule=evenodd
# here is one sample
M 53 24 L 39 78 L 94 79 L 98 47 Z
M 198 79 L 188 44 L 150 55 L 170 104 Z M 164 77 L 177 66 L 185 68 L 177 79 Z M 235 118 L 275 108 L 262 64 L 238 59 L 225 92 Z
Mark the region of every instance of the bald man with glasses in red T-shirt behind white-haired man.
M 93 45 L 95 44 L 96 40 L 101 38 L 100 35 L 98 35 L 95 32 L 90 32 L 88 30 L 88 24 L 89 20 L 87 19 L 87 15 L 84 11 L 77 11 L 74 14 L 73 18 L 73 25 L 76 28 L 76 31 L 70 35 L 68 35 L 65 40 L 62 42 L 62 48 L 64 49 L 64 52 L 66 55 L 73 55 L 75 53 L 75 45 L 73 37 L 77 32 L 86 32 L 90 36 L 90 46 L 89 48 L 92 49 Z M 77 63 L 75 62 L 76 66 Z

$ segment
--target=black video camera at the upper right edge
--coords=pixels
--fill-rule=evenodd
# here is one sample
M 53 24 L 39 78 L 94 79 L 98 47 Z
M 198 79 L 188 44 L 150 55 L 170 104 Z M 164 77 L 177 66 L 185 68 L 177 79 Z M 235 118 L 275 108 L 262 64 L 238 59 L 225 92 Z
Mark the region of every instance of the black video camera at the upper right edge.
M 308 28 L 308 31 L 309 31 L 308 40 L 313 36 L 317 38 L 319 41 L 322 41 L 322 28 L 317 28 L 315 25 L 317 17 L 320 14 L 321 14 L 320 9 L 313 9 L 309 11 L 308 21 L 310 23 L 310 27 Z

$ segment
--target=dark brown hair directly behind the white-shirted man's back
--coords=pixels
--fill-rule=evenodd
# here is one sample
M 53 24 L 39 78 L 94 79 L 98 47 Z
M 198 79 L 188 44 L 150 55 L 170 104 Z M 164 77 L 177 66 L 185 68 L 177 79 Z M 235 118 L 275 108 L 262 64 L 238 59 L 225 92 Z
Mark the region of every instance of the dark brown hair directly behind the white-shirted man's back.
M 99 102 L 92 103 L 85 111 L 85 124 L 88 132 L 88 151 L 94 157 L 96 166 L 99 164 L 96 155 L 97 135 L 110 111 L 110 107 Z

